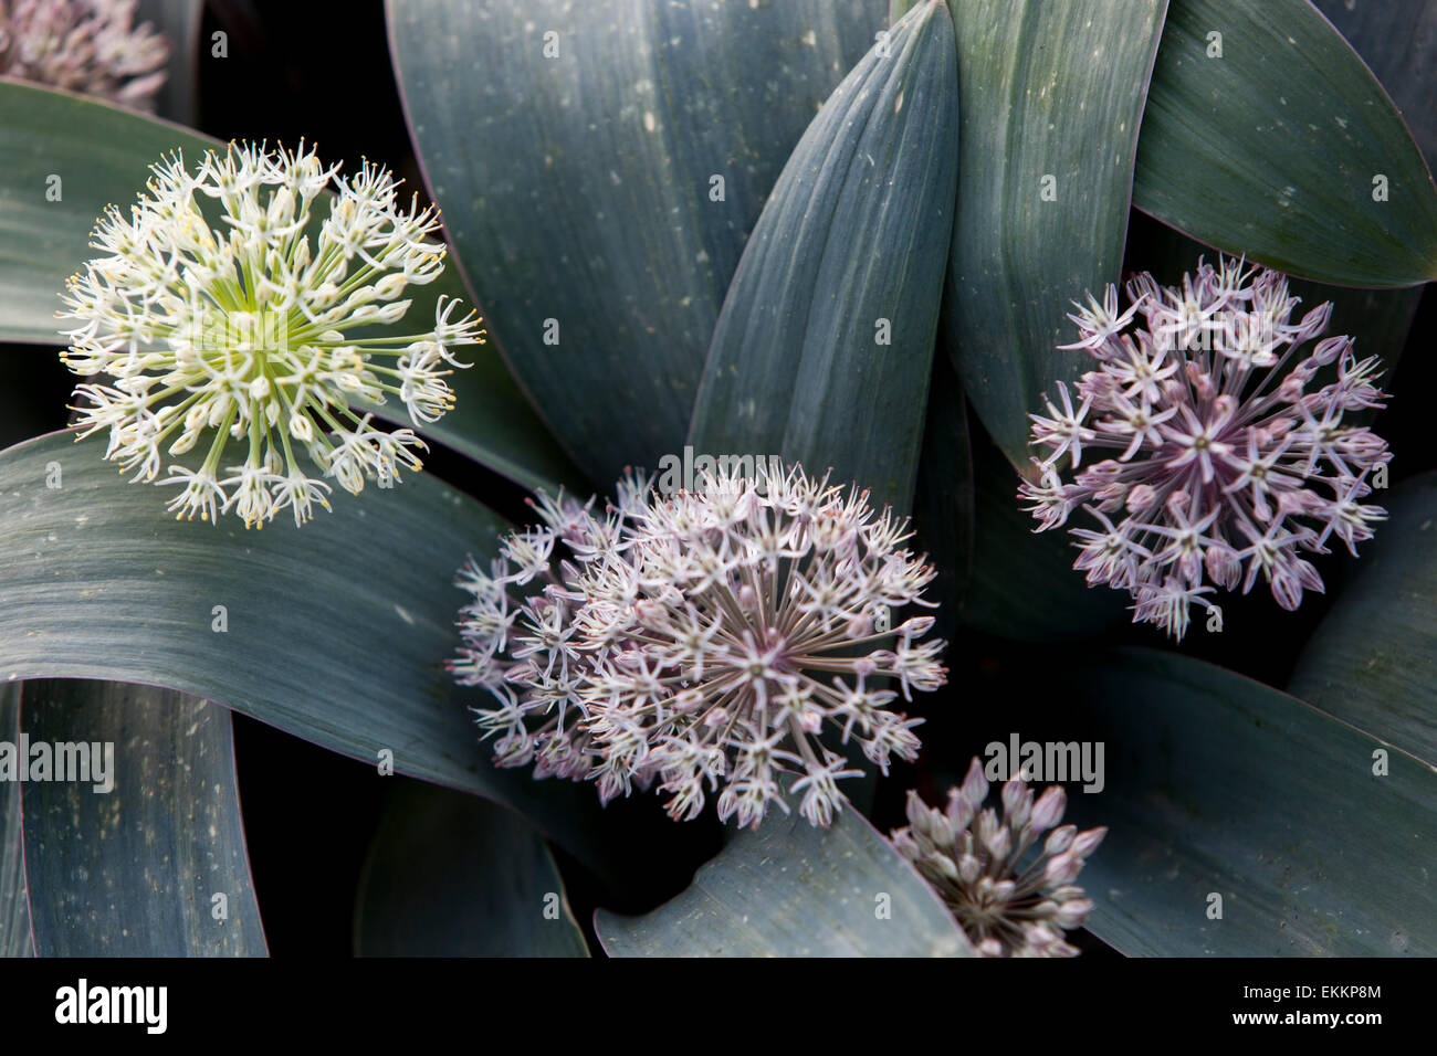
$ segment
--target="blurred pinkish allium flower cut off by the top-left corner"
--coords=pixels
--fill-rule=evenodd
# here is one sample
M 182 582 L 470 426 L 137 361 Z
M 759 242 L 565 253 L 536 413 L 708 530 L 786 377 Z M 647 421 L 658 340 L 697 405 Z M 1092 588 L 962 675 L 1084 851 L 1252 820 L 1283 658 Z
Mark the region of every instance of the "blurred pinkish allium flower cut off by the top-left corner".
M 0 0 L 0 76 L 154 109 L 170 42 L 137 0 Z

